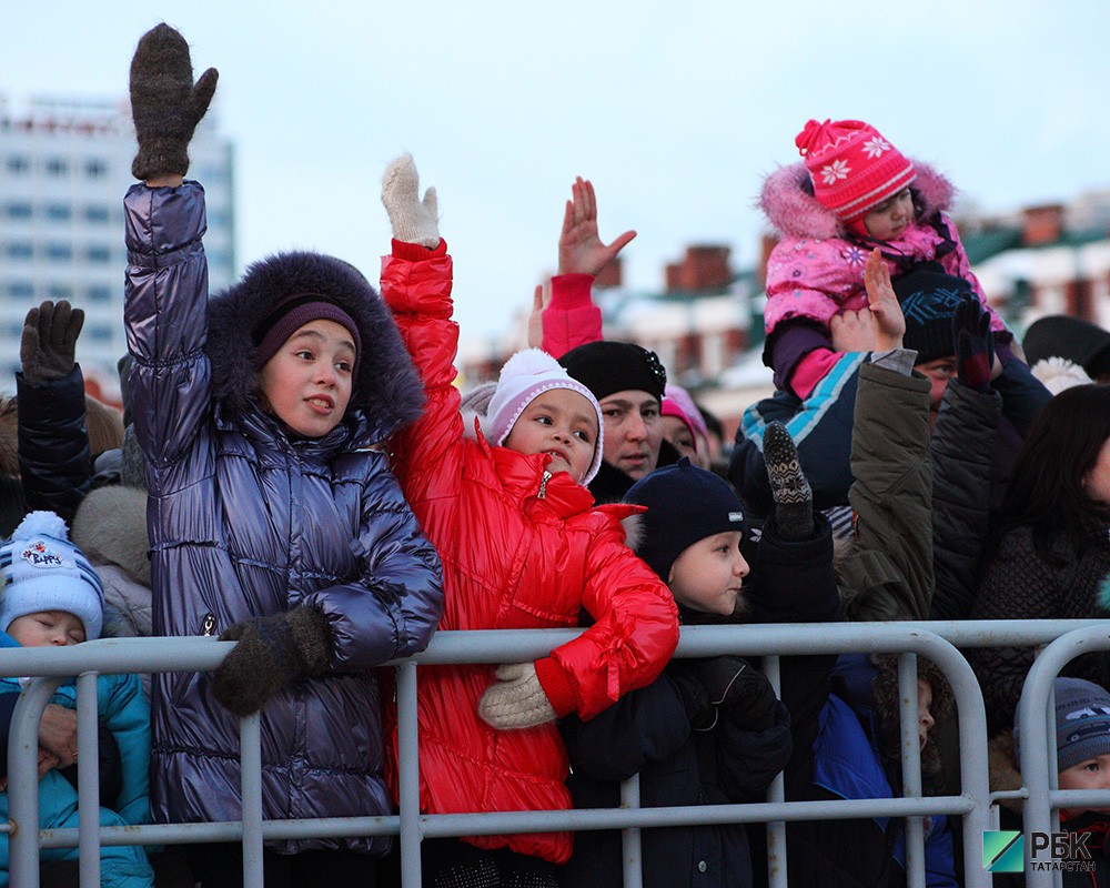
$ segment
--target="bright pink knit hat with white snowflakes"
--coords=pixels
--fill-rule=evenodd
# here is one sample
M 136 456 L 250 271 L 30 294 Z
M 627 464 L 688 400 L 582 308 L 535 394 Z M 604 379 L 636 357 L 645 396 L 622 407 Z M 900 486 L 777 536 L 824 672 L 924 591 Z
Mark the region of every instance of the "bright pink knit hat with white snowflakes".
M 917 178 L 914 164 L 861 120 L 810 120 L 794 142 L 805 158 L 814 196 L 846 222 Z

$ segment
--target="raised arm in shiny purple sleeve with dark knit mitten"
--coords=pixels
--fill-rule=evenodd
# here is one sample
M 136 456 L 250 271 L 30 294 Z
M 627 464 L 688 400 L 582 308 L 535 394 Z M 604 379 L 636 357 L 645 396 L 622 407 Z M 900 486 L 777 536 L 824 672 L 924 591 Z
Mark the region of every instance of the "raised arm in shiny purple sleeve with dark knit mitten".
M 189 446 L 206 415 L 210 367 L 204 190 L 182 184 L 189 140 L 208 110 L 216 72 L 193 83 L 184 38 L 167 24 L 143 34 L 131 63 L 139 152 L 127 213 L 124 320 L 135 434 L 154 478 Z M 152 485 L 158 493 L 162 483 Z

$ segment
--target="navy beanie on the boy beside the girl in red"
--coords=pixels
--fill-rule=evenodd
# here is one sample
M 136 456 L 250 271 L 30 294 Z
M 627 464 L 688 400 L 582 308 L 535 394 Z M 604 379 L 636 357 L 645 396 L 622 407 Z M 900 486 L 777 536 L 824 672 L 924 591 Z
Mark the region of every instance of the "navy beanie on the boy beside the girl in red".
M 624 502 L 647 506 L 636 554 L 664 583 L 678 556 L 699 539 L 747 528 L 744 505 L 728 483 L 686 456 L 642 477 Z

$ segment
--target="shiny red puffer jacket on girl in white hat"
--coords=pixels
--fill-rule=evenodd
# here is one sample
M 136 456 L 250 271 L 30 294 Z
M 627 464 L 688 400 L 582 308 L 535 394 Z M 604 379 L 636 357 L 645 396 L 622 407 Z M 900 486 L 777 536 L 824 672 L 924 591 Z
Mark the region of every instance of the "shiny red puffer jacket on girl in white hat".
M 428 251 L 394 241 L 394 255 L 383 260 L 382 295 L 427 392 L 424 416 L 395 442 L 395 467 L 443 559 L 440 628 L 573 627 L 585 607 L 594 625 L 553 650 L 545 665 L 565 684 L 573 709 L 589 718 L 649 684 L 666 665 L 678 643 L 674 599 L 624 545 L 619 518 L 635 507 L 592 507 L 589 492 L 566 472 L 548 475 L 546 455 L 491 446 L 481 434 L 476 441 L 464 437 L 460 393 L 452 384 L 458 326 L 451 321 L 451 274 L 442 242 Z M 493 670 L 487 665 L 421 669 L 421 810 L 571 807 L 566 750 L 554 723 L 496 730 L 478 716 Z M 547 680 L 544 686 L 551 696 Z M 390 745 L 395 755 L 395 730 Z M 393 764 L 389 775 L 396 797 Z M 572 837 L 468 841 L 564 862 Z

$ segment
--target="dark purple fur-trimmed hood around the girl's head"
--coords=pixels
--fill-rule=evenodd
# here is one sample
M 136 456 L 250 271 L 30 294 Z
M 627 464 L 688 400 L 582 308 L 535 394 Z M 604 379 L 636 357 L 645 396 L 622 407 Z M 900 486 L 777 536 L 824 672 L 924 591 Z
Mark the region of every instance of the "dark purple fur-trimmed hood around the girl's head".
M 209 304 L 205 352 L 212 395 L 228 415 L 242 416 L 254 387 L 251 330 L 285 296 L 317 293 L 351 315 L 362 353 L 347 415 L 362 412 L 380 437 L 407 425 L 424 406 L 424 390 L 393 316 L 362 273 L 320 253 L 280 253 L 248 269 L 243 279 Z

